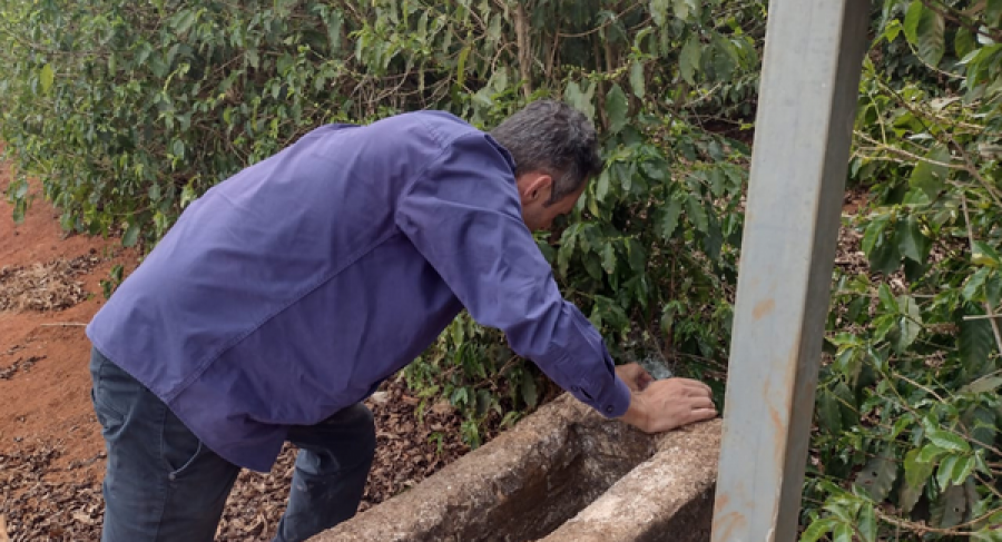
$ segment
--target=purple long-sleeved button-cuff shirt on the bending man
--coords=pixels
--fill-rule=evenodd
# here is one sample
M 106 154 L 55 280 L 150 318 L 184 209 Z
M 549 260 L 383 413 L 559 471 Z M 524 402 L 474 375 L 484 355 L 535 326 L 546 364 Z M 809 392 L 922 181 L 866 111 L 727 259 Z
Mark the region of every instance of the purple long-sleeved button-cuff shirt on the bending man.
M 328 125 L 194 201 L 87 327 L 213 451 L 367 397 L 465 307 L 606 416 L 629 391 L 521 218 L 511 156 L 444 112 Z

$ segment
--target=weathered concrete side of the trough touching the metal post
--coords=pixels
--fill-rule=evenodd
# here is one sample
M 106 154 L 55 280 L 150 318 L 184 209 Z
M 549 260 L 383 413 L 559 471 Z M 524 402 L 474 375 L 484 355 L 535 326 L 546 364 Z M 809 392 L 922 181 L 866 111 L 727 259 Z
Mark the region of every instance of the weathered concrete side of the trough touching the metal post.
M 650 460 L 540 542 L 709 540 L 721 431 L 713 420 L 659 435 Z

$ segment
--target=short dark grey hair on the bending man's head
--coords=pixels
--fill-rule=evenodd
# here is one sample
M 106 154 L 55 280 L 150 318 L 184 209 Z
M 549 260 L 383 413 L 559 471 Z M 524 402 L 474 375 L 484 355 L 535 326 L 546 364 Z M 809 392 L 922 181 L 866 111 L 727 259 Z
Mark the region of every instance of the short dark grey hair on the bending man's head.
M 541 171 L 553 177 L 547 205 L 576 193 L 602 169 L 595 126 L 562 101 L 533 101 L 490 135 L 511 154 L 515 175 Z

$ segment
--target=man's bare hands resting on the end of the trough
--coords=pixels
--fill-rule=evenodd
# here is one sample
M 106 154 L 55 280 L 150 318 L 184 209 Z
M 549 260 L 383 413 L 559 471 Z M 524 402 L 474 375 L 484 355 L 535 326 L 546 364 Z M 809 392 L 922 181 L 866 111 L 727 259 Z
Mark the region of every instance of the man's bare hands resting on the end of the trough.
M 717 416 L 713 393 L 706 384 L 690 378 L 654 381 L 636 364 L 616 368 L 630 388 L 630 407 L 620 417 L 645 433 L 671 431 Z

